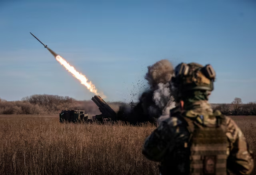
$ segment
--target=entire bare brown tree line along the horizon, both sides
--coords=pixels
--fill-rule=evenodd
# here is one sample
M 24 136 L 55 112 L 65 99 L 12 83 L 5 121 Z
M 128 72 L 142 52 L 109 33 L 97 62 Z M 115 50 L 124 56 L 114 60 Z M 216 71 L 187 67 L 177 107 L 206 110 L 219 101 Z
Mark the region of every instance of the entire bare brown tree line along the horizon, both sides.
M 118 111 L 120 103 L 112 102 L 109 105 Z M 214 109 L 219 109 L 224 115 L 256 115 L 256 102 L 242 103 L 236 97 L 230 104 L 215 104 Z M 93 101 L 78 101 L 72 97 L 36 94 L 22 98 L 21 101 L 6 101 L 0 99 L 0 114 L 58 114 L 62 110 L 81 109 L 90 115 L 98 115 L 100 111 Z

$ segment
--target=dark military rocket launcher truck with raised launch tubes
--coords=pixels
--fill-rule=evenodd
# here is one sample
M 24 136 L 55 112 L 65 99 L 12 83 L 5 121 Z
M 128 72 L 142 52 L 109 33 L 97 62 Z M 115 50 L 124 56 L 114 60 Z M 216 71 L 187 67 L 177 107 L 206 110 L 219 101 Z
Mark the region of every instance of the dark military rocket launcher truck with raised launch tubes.
M 100 115 L 88 116 L 87 113 L 84 113 L 84 110 L 64 110 L 60 112 L 60 122 L 82 122 L 88 120 L 116 121 L 116 112 L 99 95 L 94 95 L 92 101 L 99 107 Z

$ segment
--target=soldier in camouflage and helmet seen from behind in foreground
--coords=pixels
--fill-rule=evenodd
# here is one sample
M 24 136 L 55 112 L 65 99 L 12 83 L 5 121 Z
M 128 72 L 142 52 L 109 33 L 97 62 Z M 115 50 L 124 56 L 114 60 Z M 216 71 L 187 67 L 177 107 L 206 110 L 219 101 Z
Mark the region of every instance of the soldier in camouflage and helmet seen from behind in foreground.
M 213 111 L 208 97 L 215 72 L 210 65 L 181 63 L 172 85 L 178 107 L 146 139 L 142 153 L 160 162 L 162 175 L 248 175 L 252 152 L 236 123 Z

